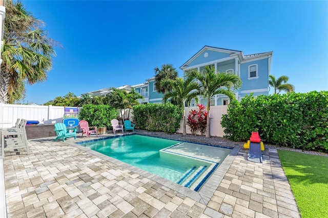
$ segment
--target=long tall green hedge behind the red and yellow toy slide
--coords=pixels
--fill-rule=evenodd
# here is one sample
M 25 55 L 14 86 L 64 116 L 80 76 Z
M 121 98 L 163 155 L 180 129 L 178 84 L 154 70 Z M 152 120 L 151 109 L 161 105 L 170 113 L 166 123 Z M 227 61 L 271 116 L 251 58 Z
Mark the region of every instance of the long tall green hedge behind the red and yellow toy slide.
M 221 125 L 226 137 L 247 141 L 252 131 L 274 145 L 328 152 L 328 91 L 245 96 L 231 102 Z

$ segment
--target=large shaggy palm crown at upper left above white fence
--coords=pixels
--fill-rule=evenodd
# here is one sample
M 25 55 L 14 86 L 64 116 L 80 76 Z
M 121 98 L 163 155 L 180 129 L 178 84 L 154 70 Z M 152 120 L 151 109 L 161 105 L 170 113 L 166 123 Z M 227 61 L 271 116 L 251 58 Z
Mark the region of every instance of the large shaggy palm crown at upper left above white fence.
M 56 43 L 40 29 L 42 25 L 22 3 L 6 1 L 0 102 L 13 103 L 24 95 L 25 83 L 32 85 L 47 79 Z

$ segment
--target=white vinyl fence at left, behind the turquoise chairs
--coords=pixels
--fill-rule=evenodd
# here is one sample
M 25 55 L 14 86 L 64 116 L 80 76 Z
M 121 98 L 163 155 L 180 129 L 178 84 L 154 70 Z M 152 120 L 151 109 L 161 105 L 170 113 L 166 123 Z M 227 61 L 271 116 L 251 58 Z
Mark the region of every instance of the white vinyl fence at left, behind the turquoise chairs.
M 38 121 L 40 124 L 61 123 L 64 117 L 62 106 L 10 105 L 0 103 L 0 128 L 12 127 L 17 118 Z

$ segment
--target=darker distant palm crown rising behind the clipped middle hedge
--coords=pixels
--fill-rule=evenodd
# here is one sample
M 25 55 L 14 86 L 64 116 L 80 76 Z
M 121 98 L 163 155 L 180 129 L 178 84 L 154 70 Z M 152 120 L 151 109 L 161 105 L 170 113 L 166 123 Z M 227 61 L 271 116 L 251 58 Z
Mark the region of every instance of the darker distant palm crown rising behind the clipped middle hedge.
M 158 92 L 166 94 L 168 91 L 172 90 L 170 84 L 160 84 L 162 80 L 170 79 L 175 80 L 178 77 L 178 72 L 171 64 L 163 64 L 161 69 L 155 67 L 155 88 Z

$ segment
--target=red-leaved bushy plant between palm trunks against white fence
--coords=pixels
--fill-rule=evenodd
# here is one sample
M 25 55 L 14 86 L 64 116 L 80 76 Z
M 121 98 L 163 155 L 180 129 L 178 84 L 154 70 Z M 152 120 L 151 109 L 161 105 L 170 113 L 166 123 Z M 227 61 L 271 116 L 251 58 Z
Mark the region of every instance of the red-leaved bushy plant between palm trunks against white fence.
M 187 125 L 190 127 L 191 134 L 196 135 L 197 131 L 200 131 L 201 135 L 206 132 L 206 122 L 207 122 L 207 111 L 203 105 L 197 105 L 198 111 L 191 110 L 187 117 Z

